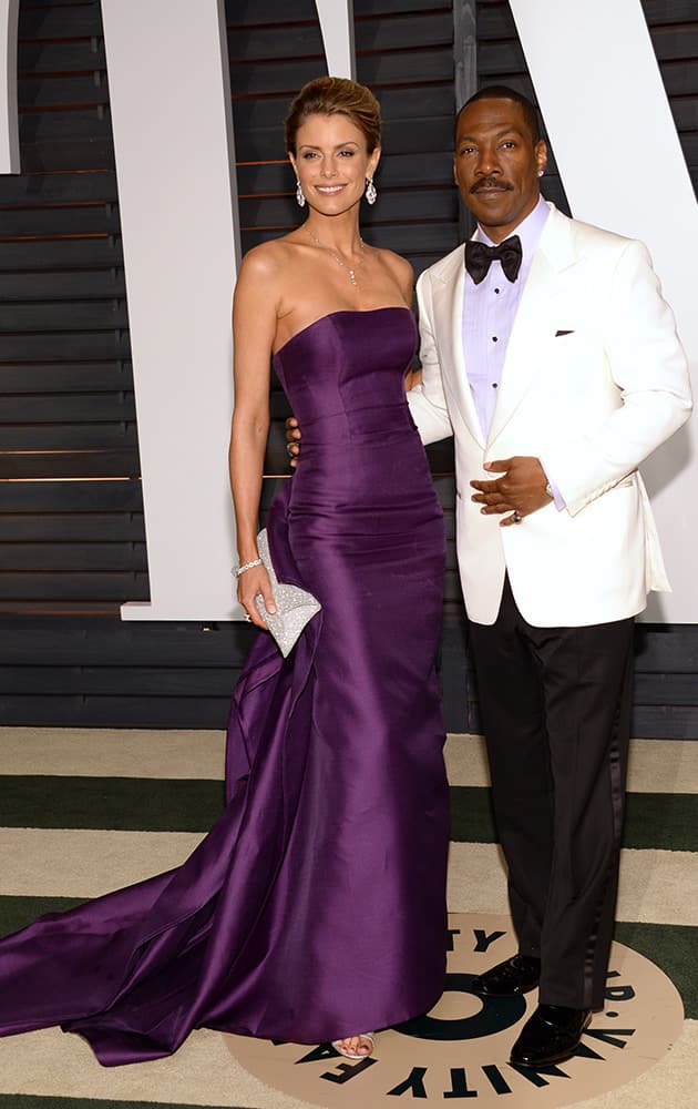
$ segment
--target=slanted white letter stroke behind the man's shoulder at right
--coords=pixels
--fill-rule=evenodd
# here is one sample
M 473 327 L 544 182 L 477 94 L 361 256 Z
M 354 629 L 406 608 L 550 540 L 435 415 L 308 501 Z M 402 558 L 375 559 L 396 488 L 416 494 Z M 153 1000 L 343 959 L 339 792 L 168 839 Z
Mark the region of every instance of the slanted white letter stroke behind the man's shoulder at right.
M 698 367 L 698 205 L 640 0 L 511 0 L 565 192 L 577 220 L 640 238 Z M 603 34 L 599 34 L 603 28 Z M 698 622 L 698 418 L 643 466 L 673 593 L 646 620 Z

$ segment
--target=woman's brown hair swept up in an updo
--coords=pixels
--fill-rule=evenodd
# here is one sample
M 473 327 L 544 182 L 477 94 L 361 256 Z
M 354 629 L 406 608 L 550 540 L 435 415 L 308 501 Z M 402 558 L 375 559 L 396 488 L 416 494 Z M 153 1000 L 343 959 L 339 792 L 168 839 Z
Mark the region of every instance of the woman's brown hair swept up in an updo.
M 347 115 L 366 139 L 369 154 L 380 146 L 380 104 L 365 84 L 343 77 L 318 77 L 304 84 L 284 123 L 286 150 L 294 157 L 298 128 L 309 115 Z

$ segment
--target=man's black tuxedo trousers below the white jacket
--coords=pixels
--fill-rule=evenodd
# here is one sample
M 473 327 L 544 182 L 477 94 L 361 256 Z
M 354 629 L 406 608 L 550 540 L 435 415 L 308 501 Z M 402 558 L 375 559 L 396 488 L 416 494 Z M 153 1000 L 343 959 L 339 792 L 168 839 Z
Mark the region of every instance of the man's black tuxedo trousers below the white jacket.
M 540 1000 L 604 1004 L 630 734 L 633 619 L 534 628 L 509 578 L 471 623 L 494 812 L 519 949 Z

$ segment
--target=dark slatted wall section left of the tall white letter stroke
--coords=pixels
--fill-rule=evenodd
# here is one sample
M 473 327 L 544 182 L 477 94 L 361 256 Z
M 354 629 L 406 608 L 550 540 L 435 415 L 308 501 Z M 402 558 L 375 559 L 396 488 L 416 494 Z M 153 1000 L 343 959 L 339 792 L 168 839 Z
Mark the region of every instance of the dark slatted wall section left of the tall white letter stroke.
M 0 176 L 0 611 L 147 597 L 101 11 L 20 4 Z

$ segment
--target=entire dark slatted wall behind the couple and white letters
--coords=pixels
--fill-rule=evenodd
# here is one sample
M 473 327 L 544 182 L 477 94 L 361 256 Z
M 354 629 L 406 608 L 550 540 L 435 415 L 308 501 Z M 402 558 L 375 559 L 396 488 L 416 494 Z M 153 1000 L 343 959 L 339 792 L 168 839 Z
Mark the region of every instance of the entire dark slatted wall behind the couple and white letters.
M 694 180 L 695 7 L 646 0 Z M 481 0 L 478 18 L 481 80 L 530 91 L 507 3 Z M 227 22 L 247 248 L 301 217 L 281 120 L 325 62 L 312 0 L 228 0 Z M 459 237 L 452 6 L 355 0 L 355 31 L 359 80 L 384 115 L 366 236 L 419 273 Z M 22 174 L 0 177 L 0 723 L 218 728 L 250 629 L 117 618 L 121 601 L 147 598 L 147 570 L 99 0 L 21 0 L 19 71 Z M 552 171 L 547 194 L 564 208 Z M 265 503 L 287 472 L 278 387 L 273 414 Z M 459 731 L 478 721 L 452 451 L 431 459 L 451 540 L 442 684 Z M 697 630 L 643 629 L 638 645 L 636 734 L 698 736 Z

